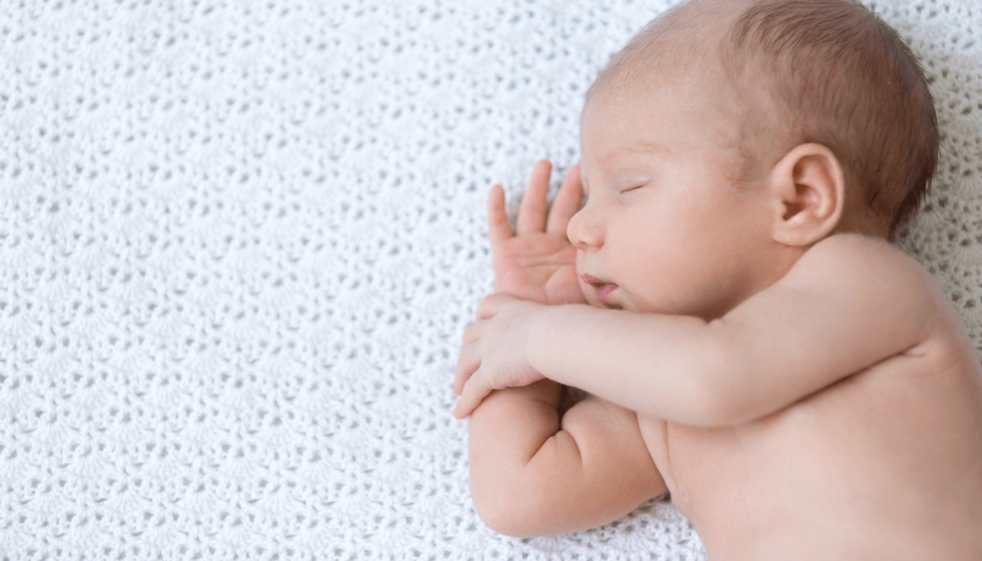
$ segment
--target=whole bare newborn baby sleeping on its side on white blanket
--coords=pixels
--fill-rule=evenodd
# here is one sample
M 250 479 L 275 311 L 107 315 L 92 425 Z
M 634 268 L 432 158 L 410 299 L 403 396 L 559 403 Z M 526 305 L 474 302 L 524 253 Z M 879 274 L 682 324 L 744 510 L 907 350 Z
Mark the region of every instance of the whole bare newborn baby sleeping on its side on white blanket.
M 581 142 L 548 222 L 547 163 L 515 236 L 492 190 L 512 296 L 455 383 L 481 518 L 572 532 L 669 491 L 713 561 L 982 559 L 982 367 L 888 242 L 938 151 L 896 31 L 693 0 L 601 73 Z M 560 383 L 591 394 L 562 417 Z

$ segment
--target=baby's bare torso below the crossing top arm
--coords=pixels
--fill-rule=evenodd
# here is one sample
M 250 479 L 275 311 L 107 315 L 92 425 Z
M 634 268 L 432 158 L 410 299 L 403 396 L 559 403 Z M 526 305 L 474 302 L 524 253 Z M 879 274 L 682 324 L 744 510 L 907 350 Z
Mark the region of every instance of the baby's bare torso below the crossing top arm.
M 711 561 L 982 559 L 982 367 L 956 316 L 943 323 L 762 420 L 638 416 Z

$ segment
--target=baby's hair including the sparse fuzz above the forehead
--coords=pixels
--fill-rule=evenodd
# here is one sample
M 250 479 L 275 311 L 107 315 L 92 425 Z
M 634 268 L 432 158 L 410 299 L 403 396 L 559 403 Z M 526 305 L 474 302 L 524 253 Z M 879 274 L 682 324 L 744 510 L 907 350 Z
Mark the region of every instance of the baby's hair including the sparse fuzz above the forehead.
M 736 146 L 744 161 L 737 176 L 760 163 L 747 144 L 776 141 L 762 139 L 774 132 L 756 121 L 780 119 L 777 126 L 787 137 L 780 147 L 818 142 L 831 149 L 846 173 L 846 190 L 889 221 L 888 238 L 894 240 L 917 212 L 938 164 L 934 102 L 909 47 L 852 0 L 746 4 L 736 17 L 726 2 L 712 0 L 669 10 L 615 55 L 587 92 L 587 103 L 600 91 L 693 63 L 722 62 L 736 90 L 746 93 Z M 731 21 L 729 28 L 713 26 L 721 20 Z M 759 101 L 762 89 L 766 104 Z

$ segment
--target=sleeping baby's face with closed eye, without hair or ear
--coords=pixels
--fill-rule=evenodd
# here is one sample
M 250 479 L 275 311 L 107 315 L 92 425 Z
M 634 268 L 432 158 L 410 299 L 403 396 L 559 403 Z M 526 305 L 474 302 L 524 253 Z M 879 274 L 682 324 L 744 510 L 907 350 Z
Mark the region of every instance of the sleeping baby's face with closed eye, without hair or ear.
M 570 221 L 593 306 L 722 316 L 776 280 L 765 185 L 736 187 L 734 126 L 688 81 L 598 95 L 583 113 L 587 202 Z

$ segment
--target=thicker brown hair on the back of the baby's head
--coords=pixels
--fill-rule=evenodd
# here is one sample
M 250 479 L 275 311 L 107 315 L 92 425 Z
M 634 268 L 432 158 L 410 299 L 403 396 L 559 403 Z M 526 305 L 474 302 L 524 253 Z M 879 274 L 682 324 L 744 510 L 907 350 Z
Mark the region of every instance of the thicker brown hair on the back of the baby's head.
M 900 34 L 850 0 L 763 0 L 721 43 L 729 70 L 769 83 L 794 141 L 842 162 L 895 239 L 938 165 L 938 123 L 924 73 Z

